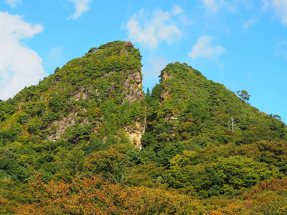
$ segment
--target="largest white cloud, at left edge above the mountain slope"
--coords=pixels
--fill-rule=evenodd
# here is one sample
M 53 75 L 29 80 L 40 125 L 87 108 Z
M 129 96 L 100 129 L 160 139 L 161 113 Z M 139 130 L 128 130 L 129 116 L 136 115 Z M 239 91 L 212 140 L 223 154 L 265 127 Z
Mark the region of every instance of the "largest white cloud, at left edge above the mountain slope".
M 42 58 L 21 41 L 43 31 L 43 26 L 0 12 L 0 98 L 7 99 L 25 86 L 38 84 L 46 73 Z

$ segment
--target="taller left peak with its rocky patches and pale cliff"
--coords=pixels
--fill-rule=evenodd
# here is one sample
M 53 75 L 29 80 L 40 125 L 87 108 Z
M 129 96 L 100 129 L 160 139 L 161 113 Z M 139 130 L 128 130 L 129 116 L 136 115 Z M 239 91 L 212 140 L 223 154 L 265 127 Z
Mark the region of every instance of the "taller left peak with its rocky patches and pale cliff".
M 45 180 L 70 180 L 91 152 L 139 145 L 146 116 L 140 60 L 133 45 L 109 42 L 0 101 L 0 195 L 32 201 L 25 183 L 33 169 Z

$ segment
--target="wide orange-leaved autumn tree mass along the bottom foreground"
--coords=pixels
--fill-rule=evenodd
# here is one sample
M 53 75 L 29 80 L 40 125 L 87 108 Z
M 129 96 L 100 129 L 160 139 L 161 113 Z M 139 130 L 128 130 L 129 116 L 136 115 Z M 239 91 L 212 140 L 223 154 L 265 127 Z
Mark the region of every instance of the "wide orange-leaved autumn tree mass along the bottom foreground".
M 21 215 L 148 215 L 148 214 L 204 214 L 198 200 L 161 189 L 120 187 L 101 175 L 75 179 L 71 183 L 41 180 L 31 182 L 39 203 L 18 208 Z

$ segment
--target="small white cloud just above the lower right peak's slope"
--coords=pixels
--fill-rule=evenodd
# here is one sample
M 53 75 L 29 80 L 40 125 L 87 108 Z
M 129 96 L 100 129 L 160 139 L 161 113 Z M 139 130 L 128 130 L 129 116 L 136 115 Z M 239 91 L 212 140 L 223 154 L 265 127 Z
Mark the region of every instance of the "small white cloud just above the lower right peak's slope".
M 220 45 L 212 46 L 211 42 L 214 37 L 212 36 L 201 36 L 196 44 L 192 47 L 192 51 L 187 55 L 195 60 L 197 57 L 207 57 L 216 59 L 218 55 L 226 52 L 226 49 Z

